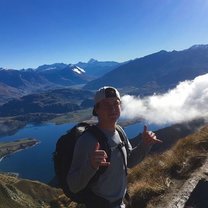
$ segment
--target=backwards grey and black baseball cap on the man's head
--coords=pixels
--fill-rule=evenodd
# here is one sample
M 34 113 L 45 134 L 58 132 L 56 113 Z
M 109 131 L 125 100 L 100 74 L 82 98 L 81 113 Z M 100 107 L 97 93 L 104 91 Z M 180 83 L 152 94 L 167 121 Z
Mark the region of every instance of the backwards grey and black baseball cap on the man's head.
M 114 97 L 121 100 L 120 93 L 118 92 L 118 90 L 111 86 L 104 86 L 100 88 L 99 90 L 97 90 L 97 92 L 95 93 L 94 106 L 105 98 L 114 98 Z M 95 107 L 93 109 L 92 114 L 94 116 L 97 116 Z

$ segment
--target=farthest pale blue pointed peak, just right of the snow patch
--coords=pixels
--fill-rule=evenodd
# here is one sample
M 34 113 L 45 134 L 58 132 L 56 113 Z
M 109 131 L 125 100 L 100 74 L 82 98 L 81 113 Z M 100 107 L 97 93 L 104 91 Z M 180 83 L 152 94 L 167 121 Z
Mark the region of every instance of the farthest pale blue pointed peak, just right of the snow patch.
M 97 61 L 95 59 L 90 59 L 87 63 L 79 62 L 76 64 L 76 66 L 83 68 L 86 73 L 93 78 L 101 77 L 120 65 L 122 65 L 122 63 L 115 61 Z

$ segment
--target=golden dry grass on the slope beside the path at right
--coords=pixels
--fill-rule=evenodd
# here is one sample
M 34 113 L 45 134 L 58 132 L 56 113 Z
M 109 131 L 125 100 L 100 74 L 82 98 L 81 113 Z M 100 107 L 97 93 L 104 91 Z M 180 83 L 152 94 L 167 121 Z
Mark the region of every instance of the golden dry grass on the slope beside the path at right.
M 155 196 L 168 191 L 173 180 L 186 180 L 203 164 L 207 152 L 208 126 L 179 140 L 171 150 L 146 158 L 128 177 L 133 207 L 146 207 Z

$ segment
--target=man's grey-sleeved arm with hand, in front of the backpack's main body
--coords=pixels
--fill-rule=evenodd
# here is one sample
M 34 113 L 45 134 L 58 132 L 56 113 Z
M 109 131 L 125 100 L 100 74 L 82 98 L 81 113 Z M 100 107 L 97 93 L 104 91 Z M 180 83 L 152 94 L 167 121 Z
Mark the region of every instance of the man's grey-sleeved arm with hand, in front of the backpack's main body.
M 74 193 L 84 189 L 100 166 L 108 166 L 107 154 L 100 149 L 97 139 L 89 133 L 83 134 L 75 145 L 72 165 L 67 183 Z

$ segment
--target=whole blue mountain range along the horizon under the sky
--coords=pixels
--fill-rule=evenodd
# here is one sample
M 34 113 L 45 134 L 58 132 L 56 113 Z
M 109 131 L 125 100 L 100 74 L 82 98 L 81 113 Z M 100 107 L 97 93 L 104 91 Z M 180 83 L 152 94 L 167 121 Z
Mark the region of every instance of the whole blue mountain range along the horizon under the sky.
M 0 104 L 10 97 L 77 85 L 88 90 L 113 85 L 131 94 L 149 95 L 205 73 L 208 45 L 194 45 L 182 51 L 162 50 L 124 63 L 90 59 L 74 65 L 45 64 L 37 69 L 0 68 Z

